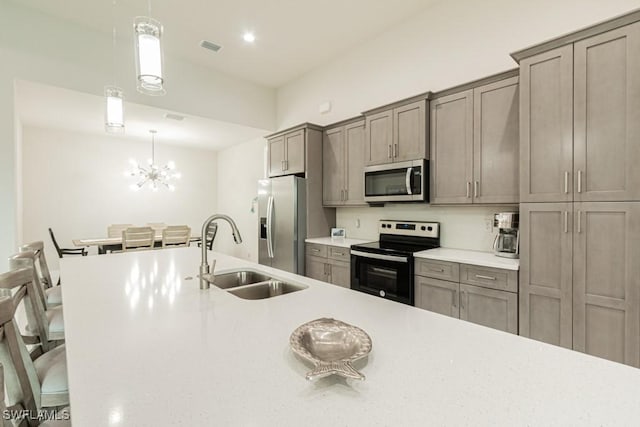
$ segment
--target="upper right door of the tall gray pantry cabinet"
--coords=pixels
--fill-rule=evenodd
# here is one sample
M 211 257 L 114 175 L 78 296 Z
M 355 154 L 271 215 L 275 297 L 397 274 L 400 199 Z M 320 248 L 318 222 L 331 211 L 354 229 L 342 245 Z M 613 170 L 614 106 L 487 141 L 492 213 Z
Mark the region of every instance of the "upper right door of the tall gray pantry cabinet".
M 574 200 L 640 200 L 640 23 L 574 45 Z

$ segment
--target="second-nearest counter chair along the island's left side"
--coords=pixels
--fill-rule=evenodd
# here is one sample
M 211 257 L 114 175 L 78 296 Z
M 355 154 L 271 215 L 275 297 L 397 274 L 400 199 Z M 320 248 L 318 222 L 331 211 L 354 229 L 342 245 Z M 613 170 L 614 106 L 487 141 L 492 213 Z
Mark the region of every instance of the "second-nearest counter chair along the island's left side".
M 40 344 L 44 353 L 64 341 L 62 305 L 47 307 L 46 296 L 35 268 L 35 252 L 27 251 L 9 257 L 10 270 L 30 269 L 33 277 L 29 298 L 25 300 L 27 324 L 23 337 L 27 344 Z

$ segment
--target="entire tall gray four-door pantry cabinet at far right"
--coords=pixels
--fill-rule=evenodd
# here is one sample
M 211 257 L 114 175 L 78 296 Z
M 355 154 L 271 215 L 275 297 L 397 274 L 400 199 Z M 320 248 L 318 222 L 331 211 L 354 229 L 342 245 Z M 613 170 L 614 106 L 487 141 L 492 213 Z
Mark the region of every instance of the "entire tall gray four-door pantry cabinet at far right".
M 640 22 L 513 57 L 520 334 L 640 366 Z

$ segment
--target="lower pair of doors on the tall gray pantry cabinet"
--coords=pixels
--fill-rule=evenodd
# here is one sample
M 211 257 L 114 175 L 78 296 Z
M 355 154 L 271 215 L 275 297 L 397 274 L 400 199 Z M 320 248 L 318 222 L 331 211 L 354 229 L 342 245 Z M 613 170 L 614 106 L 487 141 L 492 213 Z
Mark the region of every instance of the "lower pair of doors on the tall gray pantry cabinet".
M 640 202 L 523 203 L 520 334 L 640 366 Z

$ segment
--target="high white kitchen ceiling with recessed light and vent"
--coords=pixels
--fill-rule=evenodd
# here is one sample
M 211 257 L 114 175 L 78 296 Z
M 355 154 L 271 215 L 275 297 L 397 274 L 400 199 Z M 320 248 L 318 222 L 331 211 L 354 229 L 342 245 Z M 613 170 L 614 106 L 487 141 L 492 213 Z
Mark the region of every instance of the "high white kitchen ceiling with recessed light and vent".
M 79 25 L 131 37 L 133 18 L 165 28 L 165 55 L 278 87 L 438 0 L 13 0 Z M 253 45 L 242 40 L 255 33 Z M 119 37 L 119 38 L 120 38 Z M 206 39 L 218 53 L 199 46 Z

